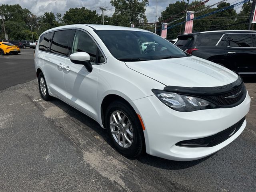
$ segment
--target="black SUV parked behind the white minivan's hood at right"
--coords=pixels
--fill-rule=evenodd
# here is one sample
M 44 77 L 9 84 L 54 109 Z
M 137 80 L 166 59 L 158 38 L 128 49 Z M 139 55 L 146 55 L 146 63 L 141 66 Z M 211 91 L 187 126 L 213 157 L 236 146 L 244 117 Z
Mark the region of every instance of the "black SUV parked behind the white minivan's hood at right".
M 206 31 L 178 36 L 176 46 L 239 74 L 256 74 L 256 31 Z

